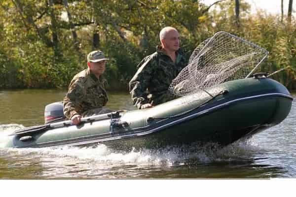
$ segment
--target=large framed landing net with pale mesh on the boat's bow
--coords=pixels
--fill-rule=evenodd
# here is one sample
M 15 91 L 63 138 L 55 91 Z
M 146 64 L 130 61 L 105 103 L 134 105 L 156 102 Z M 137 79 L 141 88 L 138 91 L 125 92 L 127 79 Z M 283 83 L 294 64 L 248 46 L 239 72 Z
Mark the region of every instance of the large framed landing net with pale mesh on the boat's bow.
M 268 52 L 235 35 L 216 33 L 192 52 L 188 65 L 172 81 L 169 90 L 178 96 L 226 81 L 248 77 Z

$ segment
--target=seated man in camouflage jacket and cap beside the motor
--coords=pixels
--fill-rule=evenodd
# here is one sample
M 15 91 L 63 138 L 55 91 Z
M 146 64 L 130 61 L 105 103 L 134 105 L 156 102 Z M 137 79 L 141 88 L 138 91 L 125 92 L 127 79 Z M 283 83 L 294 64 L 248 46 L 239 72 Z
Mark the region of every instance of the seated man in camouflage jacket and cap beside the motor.
M 72 79 L 63 110 L 73 124 L 79 124 L 81 117 L 111 112 L 103 107 L 108 101 L 102 78 L 107 60 L 102 51 L 90 52 L 87 55 L 88 68 Z

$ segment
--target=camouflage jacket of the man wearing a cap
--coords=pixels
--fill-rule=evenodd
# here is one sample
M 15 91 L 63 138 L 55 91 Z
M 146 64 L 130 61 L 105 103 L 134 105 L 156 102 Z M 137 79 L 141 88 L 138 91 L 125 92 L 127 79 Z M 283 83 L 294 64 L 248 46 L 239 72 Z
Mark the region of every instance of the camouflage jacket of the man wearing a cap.
M 83 115 L 89 110 L 105 106 L 108 98 L 104 82 L 102 77 L 98 79 L 89 69 L 76 74 L 64 98 L 65 116 L 71 119 L 75 114 Z

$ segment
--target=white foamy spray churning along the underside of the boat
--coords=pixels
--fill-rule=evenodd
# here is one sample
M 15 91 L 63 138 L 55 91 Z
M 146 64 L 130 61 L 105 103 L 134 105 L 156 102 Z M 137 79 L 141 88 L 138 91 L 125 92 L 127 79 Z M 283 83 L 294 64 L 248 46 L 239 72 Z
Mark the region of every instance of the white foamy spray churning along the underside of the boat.
M 231 161 L 244 154 L 250 154 L 256 146 L 246 142 L 235 143 L 216 149 L 215 147 L 164 147 L 159 150 L 131 150 L 116 151 L 104 144 L 93 147 L 47 147 L 47 148 L 8 148 L 1 152 L 13 155 L 35 155 L 51 158 L 74 158 L 75 160 L 89 160 L 104 164 L 137 164 L 137 165 L 178 165 L 188 161 L 209 163 L 214 161 Z

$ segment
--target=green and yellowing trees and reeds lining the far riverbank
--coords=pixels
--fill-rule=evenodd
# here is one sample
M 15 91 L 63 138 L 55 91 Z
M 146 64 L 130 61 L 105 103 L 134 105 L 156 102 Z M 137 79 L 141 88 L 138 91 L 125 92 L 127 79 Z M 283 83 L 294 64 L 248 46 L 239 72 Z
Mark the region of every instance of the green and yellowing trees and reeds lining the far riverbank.
M 287 67 L 272 77 L 296 89 L 292 11 L 254 14 L 244 0 L 0 0 L 0 89 L 67 88 L 86 55 L 102 50 L 108 89 L 127 90 L 165 26 L 179 31 L 187 57 L 216 32 L 250 40 L 269 52 L 258 71 Z

